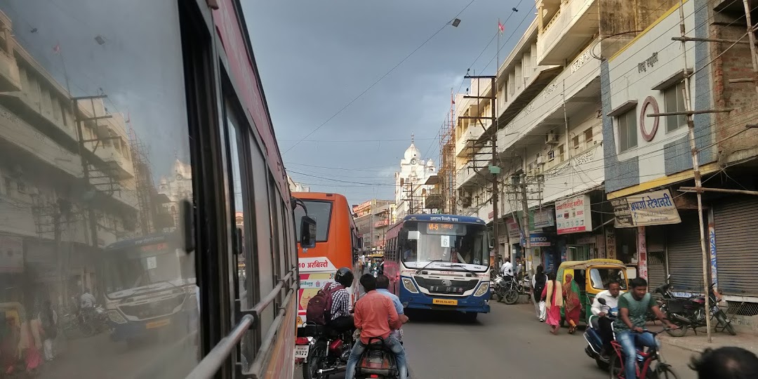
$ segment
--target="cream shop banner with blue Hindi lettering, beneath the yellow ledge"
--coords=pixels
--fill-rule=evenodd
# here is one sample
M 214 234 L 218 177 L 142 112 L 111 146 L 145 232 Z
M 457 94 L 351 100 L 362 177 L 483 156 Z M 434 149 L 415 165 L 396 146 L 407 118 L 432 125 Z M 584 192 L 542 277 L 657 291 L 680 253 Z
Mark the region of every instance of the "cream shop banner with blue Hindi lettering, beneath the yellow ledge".
M 669 189 L 612 199 L 615 227 L 679 224 L 679 212 Z

